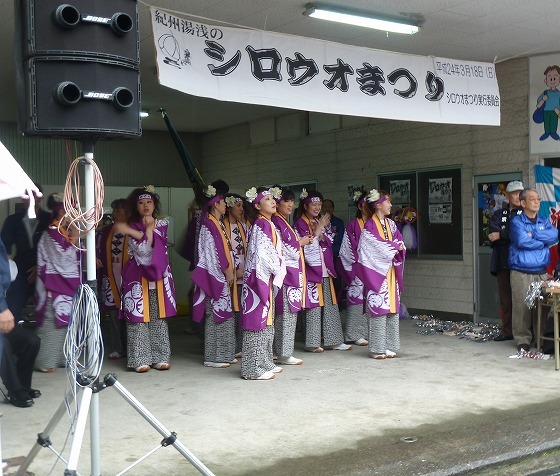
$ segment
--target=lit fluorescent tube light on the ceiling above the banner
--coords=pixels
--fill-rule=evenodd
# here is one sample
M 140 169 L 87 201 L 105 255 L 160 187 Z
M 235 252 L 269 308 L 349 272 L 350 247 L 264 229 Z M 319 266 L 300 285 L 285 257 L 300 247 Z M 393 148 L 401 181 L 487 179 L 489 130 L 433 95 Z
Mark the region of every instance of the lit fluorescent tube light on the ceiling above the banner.
M 346 23 L 348 25 L 363 26 L 373 28 L 375 30 L 390 31 L 392 33 L 405 33 L 413 35 L 418 32 L 418 25 L 412 21 L 405 19 L 396 19 L 389 17 L 375 16 L 368 13 L 347 10 L 337 7 L 325 7 L 314 5 L 312 3 L 306 5 L 307 10 L 303 12 L 312 18 L 321 20 L 335 21 L 338 23 Z

